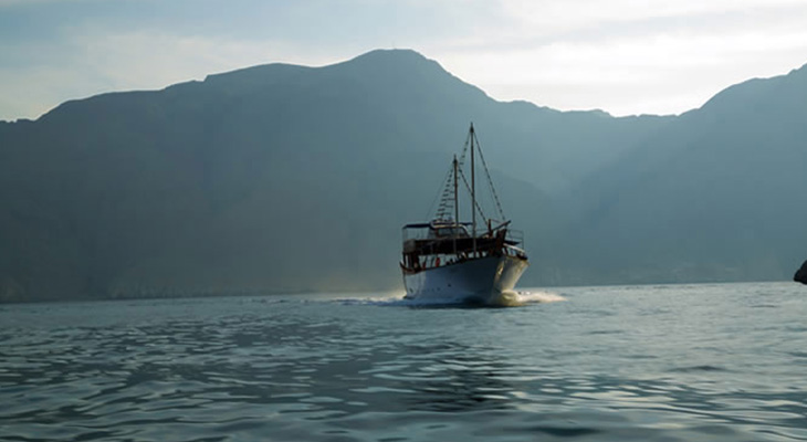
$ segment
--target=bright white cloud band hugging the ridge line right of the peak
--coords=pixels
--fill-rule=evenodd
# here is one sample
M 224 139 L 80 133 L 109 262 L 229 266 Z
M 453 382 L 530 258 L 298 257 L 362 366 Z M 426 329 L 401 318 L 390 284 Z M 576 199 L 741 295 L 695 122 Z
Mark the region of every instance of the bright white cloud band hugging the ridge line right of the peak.
M 748 31 L 730 38 L 558 42 L 437 57 L 497 99 L 630 115 L 680 114 L 732 84 L 787 73 L 804 64 L 806 55 L 807 31 L 782 35 Z

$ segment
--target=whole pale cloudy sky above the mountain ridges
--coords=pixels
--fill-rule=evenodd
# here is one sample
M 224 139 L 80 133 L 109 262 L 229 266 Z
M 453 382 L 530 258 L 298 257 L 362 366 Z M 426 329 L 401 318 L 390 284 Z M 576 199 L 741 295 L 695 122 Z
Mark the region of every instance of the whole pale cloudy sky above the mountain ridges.
M 678 114 L 807 63 L 805 0 L 0 0 L 0 119 L 413 49 L 501 101 Z

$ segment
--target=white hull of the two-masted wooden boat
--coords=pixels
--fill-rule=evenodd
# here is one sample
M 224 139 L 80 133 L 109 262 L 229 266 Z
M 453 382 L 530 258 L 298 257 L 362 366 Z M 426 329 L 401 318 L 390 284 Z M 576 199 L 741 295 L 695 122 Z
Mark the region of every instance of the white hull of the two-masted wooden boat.
M 486 256 L 462 263 L 405 273 L 406 298 L 436 303 L 495 303 L 510 291 L 526 270 L 526 260 Z

